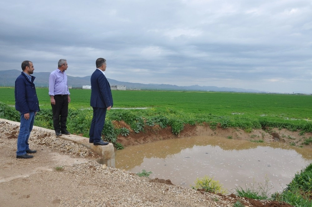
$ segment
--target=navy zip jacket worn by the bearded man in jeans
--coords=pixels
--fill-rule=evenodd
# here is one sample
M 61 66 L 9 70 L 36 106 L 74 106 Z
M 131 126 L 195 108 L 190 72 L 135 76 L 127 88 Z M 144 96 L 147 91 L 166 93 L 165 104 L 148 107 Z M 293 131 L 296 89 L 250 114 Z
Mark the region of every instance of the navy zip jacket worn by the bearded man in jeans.
M 22 72 L 15 80 L 15 109 L 22 114 L 29 112 L 38 112 L 39 101 L 36 93 L 34 79 L 32 81 L 27 78 L 27 75 Z

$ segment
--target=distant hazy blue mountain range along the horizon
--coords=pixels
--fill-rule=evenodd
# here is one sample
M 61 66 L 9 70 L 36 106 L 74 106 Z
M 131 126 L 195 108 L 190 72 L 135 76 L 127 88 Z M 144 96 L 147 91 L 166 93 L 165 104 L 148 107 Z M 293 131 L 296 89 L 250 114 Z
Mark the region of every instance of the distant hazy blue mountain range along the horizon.
M 0 86 L 14 86 L 15 80 L 18 75 L 21 74 L 21 70 L 0 70 Z M 37 88 L 48 87 L 50 72 L 34 72 L 33 76 L 36 77 L 35 85 Z M 73 88 L 82 88 L 83 85 L 90 85 L 91 76 L 85 77 L 73 77 L 67 75 L 68 85 Z M 151 90 L 190 90 L 190 91 L 229 91 L 229 92 L 252 92 L 252 93 L 265 93 L 265 91 L 259 91 L 254 89 L 241 89 L 241 88 L 227 88 L 216 86 L 177 86 L 170 84 L 141 84 L 141 83 L 129 83 L 121 82 L 114 79 L 109 79 L 110 85 L 123 85 L 127 89 L 151 89 Z

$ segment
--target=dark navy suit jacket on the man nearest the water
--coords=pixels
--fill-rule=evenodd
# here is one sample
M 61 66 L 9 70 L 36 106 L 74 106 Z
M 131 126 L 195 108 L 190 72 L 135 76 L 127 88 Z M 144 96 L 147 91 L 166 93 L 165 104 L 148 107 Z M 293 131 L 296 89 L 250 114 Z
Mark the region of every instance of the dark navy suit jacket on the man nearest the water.
M 113 107 L 110 84 L 101 70 L 96 69 L 91 75 L 90 106 L 97 108 Z

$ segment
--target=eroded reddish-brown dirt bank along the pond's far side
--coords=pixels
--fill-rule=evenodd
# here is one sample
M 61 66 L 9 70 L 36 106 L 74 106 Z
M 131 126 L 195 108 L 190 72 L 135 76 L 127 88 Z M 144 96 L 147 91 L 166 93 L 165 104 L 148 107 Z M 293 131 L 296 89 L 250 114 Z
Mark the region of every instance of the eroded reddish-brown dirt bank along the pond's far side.
M 278 128 L 266 128 L 266 129 L 253 129 L 252 132 L 245 132 L 238 128 L 226 128 L 217 127 L 215 130 L 209 128 L 207 124 L 203 125 L 185 125 L 184 129 L 178 135 L 174 135 L 171 132 L 171 127 L 160 128 L 155 125 L 154 127 L 146 127 L 144 132 L 135 133 L 130 129 L 129 125 L 123 121 L 114 121 L 115 127 L 128 128 L 130 133 L 128 136 L 118 136 L 117 142 L 123 146 L 131 146 L 137 144 L 143 144 L 148 142 L 155 142 L 165 139 L 174 139 L 182 137 L 193 136 L 218 136 L 224 138 L 232 138 L 237 140 L 263 140 L 264 142 L 283 142 L 291 144 L 297 147 L 312 148 L 312 144 L 302 144 L 305 138 L 312 137 L 312 132 L 300 135 L 300 131 L 291 132 L 286 129 Z

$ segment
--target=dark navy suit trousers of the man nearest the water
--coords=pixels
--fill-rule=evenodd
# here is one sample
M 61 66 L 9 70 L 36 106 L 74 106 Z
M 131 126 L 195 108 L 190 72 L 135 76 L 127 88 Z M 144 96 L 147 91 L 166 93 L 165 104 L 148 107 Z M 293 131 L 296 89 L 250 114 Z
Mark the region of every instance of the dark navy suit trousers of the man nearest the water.
M 92 108 L 93 108 L 93 118 L 90 126 L 89 141 L 100 142 L 101 133 L 105 124 L 105 116 L 107 108 L 97 108 L 97 107 Z

